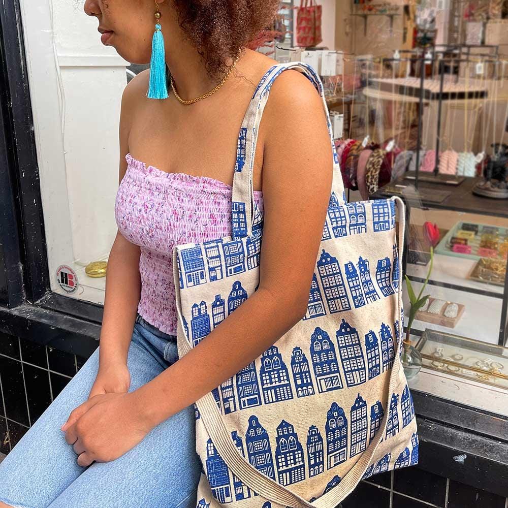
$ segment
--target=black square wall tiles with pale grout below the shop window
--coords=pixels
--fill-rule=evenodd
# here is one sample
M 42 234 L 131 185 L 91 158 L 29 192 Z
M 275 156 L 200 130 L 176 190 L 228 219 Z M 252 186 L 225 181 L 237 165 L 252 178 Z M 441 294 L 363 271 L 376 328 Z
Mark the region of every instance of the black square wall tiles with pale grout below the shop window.
M 86 361 L 0 333 L 0 453 L 7 454 Z M 508 508 L 508 499 L 417 467 L 361 482 L 342 508 Z

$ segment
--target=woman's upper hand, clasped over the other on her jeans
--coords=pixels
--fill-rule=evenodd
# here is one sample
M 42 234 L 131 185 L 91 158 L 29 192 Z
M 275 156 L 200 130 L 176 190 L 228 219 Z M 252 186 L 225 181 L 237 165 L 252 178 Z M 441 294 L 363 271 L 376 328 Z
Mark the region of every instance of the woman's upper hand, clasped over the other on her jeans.
M 73 423 L 71 423 L 73 422 Z M 94 395 L 71 412 L 62 425 L 78 464 L 109 462 L 136 446 L 153 428 L 136 392 Z

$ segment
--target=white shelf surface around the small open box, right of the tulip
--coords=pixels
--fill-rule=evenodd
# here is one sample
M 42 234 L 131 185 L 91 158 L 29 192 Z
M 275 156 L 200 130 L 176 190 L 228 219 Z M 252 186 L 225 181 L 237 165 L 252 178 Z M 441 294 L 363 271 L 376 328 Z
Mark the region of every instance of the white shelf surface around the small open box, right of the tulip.
M 422 288 L 422 283 L 411 281 L 411 285 L 418 295 Z M 437 285 L 428 284 L 424 295 L 430 294 L 433 298 L 462 303 L 465 305 L 464 313 L 455 328 L 448 328 L 440 325 L 434 325 L 415 319 L 412 323 L 412 330 L 423 332 L 425 328 L 438 330 L 441 332 L 462 335 L 475 340 L 481 340 L 491 344 L 497 344 L 499 338 L 499 316 L 501 315 L 502 299 L 483 296 L 479 298 L 477 294 L 466 291 L 444 288 Z M 407 326 L 407 314 L 409 313 L 409 296 L 405 282 L 403 284 L 402 299 L 404 305 L 404 325 Z

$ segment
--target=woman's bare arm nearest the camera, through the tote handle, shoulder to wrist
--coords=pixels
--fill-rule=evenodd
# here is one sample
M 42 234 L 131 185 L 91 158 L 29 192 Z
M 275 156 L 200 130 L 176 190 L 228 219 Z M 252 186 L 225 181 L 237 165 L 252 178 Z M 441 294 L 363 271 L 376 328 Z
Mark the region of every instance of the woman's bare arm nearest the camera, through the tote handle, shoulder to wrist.
M 265 218 L 259 288 L 192 351 L 133 392 L 150 427 L 259 357 L 307 310 L 333 155 L 322 99 L 299 71 L 274 81 L 260 132 Z

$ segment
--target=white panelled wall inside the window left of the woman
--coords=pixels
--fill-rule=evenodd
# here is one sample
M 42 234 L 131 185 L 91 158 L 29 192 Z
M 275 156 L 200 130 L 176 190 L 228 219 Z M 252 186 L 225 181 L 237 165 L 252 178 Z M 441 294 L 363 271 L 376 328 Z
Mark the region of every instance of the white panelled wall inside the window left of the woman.
M 52 289 L 58 265 L 104 258 L 116 234 L 118 121 L 129 65 L 83 0 L 21 0 Z

